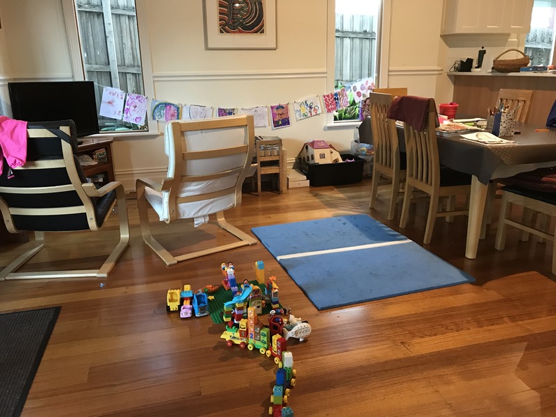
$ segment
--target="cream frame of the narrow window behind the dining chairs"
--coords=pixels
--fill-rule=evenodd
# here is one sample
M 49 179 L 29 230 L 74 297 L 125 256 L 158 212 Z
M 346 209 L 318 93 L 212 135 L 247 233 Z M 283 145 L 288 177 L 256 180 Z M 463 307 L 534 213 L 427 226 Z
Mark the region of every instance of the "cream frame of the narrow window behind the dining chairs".
M 334 91 L 334 59 L 336 56 L 336 1 L 342 0 L 328 0 L 327 1 L 327 92 Z M 377 76 L 375 84 L 388 85 L 388 57 L 390 55 L 390 22 L 393 0 L 382 0 L 381 8 L 379 10 L 378 22 L 378 40 L 377 42 Z M 379 81 L 379 84 L 376 83 Z M 334 122 L 334 113 L 325 114 L 325 129 L 353 129 L 354 126 L 359 126 L 361 120 L 351 120 L 349 122 Z

